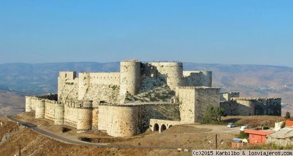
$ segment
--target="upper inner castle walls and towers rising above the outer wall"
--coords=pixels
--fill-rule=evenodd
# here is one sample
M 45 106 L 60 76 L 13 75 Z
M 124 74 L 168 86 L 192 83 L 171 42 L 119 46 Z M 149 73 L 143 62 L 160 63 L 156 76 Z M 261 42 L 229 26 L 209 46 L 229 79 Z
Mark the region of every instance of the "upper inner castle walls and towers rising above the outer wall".
M 182 62 L 142 63 L 137 59 L 122 61 L 117 73 L 60 72 L 58 100 L 91 99 L 107 103 L 124 103 L 126 92 L 131 95 L 144 91 L 147 78 L 158 78 L 159 85 L 168 85 L 175 91 L 180 86 L 211 87 L 211 71 L 183 71 Z M 118 96 L 119 95 L 119 96 Z

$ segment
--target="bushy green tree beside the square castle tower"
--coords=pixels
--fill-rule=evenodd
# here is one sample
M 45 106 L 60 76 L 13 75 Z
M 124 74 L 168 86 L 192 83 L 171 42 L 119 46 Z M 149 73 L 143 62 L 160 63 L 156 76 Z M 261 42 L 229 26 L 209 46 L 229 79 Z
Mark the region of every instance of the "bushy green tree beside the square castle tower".
M 214 123 L 217 121 L 221 121 L 221 117 L 226 117 L 225 109 L 219 108 L 218 106 L 208 105 L 204 117 L 202 119 L 202 123 Z

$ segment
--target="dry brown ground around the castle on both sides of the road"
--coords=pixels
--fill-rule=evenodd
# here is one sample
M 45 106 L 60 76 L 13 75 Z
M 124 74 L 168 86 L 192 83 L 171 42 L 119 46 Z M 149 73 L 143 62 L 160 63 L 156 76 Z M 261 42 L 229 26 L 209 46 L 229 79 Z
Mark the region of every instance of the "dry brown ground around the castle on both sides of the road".
M 215 135 L 218 138 L 218 149 L 231 149 L 231 142 L 235 134 L 228 133 L 210 133 L 211 129 L 196 128 L 192 125 L 175 125 L 159 134 L 158 131 L 146 133 L 135 137 L 110 137 L 105 132 L 92 130 L 88 133 L 77 134 L 76 129 L 70 126 L 57 126 L 54 122 L 47 119 L 35 119 L 33 113 L 21 113 L 15 118 L 33 123 L 39 128 L 45 129 L 56 135 L 71 138 L 73 140 L 84 139 L 90 142 L 110 143 L 112 145 L 127 145 L 133 148 L 106 148 L 66 144 L 60 141 L 42 136 L 28 128 L 20 126 L 15 122 L 9 121 L 6 117 L 0 118 L 0 153 L 2 156 L 11 156 L 17 154 L 19 144 L 21 144 L 21 155 L 23 156 L 190 156 L 190 152 L 140 149 L 141 147 L 171 147 L 187 149 L 214 149 Z M 284 117 L 272 116 L 252 116 L 252 117 L 223 117 L 224 121 L 236 123 L 261 124 L 275 120 L 281 121 Z M 219 142 L 223 142 L 220 144 Z

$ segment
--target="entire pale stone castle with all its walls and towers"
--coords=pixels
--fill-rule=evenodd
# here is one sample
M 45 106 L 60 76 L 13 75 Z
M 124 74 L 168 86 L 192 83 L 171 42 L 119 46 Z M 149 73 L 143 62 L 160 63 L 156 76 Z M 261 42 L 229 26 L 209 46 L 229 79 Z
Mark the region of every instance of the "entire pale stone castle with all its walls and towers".
M 182 62 L 125 60 L 115 73 L 60 72 L 58 94 L 26 96 L 25 111 L 78 133 L 98 129 L 113 137 L 199 123 L 209 104 L 228 115 L 281 116 L 281 98 L 239 98 L 211 84 L 211 71 L 183 71 Z

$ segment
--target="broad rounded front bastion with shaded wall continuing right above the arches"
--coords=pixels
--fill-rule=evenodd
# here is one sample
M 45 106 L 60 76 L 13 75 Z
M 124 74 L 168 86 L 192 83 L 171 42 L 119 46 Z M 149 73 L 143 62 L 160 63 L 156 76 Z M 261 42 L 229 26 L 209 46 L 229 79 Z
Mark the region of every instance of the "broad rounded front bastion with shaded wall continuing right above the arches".
M 166 114 L 157 111 L 174 110 L 178 104 L 100 104 L 98 129 L 106 130 L 113 137 L 130 137 L 149 127 L 151 118 L 166 119 Z M 171 112 L 170 112 L 171 113 Z M 173 112 L 174 113 L 174 112 Z

